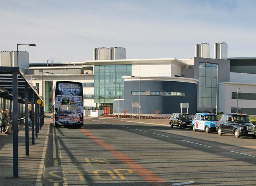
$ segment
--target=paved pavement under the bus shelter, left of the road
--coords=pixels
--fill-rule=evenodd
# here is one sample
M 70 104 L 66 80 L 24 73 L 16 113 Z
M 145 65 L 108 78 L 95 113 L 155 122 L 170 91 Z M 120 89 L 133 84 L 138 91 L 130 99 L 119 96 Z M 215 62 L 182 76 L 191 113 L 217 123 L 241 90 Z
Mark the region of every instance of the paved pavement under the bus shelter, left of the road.
M 0 186 L 41 186 L 50 123 L 50 116 L 44 117 L 35 145 L 29 127 L 29 156 L 25 155 L 25 124 L 18 126 L 18 178 L 13 177 L 13 135 L 0 133 Z

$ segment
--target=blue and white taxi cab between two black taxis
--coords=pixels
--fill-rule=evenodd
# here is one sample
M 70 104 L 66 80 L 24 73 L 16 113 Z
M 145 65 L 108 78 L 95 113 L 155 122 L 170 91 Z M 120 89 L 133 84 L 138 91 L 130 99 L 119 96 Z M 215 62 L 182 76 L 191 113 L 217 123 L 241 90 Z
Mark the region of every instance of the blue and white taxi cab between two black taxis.
M 206 133 L 210 131 L 216 132 L 216 124 L 218 123 L 219 118 L 217 114 L 213 113 L 196 113 L 193 121 L 192 121 L 192 129 L 193 131 L 196 130 L 203 130 Z

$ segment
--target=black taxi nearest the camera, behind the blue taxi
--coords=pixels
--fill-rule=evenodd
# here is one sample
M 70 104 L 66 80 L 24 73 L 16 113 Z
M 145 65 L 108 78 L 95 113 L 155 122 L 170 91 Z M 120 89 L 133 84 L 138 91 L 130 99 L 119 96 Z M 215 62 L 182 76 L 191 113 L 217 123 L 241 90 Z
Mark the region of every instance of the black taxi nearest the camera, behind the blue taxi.
M 256 138 L 254 125 L 246 114 L 222 114 L 216 124 L 216 131 L 219 135 L 234 134 L 236 138 L 240 136 Z

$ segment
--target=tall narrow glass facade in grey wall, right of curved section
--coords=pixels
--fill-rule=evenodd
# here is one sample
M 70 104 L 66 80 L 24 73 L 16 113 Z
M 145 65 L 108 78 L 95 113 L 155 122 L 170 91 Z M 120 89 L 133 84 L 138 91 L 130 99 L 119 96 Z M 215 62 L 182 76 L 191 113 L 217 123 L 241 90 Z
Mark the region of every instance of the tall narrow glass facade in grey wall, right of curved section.
M 217 93 L 217 65 L 199 63 L 199 108 L 215 108 Z

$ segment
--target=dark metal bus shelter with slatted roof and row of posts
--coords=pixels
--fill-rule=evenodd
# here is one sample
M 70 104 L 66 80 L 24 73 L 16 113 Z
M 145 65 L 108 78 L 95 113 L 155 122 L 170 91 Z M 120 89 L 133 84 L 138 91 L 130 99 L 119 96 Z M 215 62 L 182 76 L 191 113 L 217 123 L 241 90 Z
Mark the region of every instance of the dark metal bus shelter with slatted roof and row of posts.
M 20 119 L 25 119 L 25 146 L 26 155 L 28 156 L 28 104 L 31 104 L 32 113 L 32 145 L 35 145 L 35 137 L 38 137 L 39 129 L 41 129 L 44 121 L 44 112 L 42 107 L 44 102 L 19 67 L 0 67 L 0 97 L 12 101 L 10 111 L 13 129 L 13 176 L 18 177 L 18 122 Z M 19 114 L 19 104 L 23 104 L 25 107 L 24 116 Z

